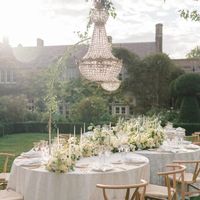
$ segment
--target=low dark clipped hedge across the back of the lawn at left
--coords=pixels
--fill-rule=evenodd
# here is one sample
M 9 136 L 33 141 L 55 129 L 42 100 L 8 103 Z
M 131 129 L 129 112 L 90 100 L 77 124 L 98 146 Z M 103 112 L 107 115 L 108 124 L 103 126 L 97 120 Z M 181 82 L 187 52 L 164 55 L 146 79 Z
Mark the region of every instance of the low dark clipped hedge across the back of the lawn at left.
M 47 122 L 23 122 L 23 123 L 10 123 L 0 126 L 0 136 L 4 134 L 13 133 L 47 133 L 48 126 Z M 76 134 L 80 134 L 81 128 L 83 131 L 84 124 L 70 124 L 70 123 L 57 123 L 57 126 L 52 125 L 52 131 L 56 132 L 59 128 L 60 133 L 74 133 L 74 126 L 76 126 Z M 89 124 L 85 124 L 86 131 Z

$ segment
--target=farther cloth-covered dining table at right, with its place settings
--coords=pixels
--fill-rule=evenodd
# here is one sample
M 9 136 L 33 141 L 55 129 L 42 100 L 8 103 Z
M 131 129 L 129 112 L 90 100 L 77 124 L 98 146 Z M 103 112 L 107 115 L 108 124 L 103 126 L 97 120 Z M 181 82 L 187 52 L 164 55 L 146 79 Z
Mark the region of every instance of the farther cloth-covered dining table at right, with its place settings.
M 166 171 L 166 165 L 177 160 L 200 160 L 200 147 L 193 144 L 188 144 L 179 147 L 139 150 L 137 154 L 143 155 L 149 159 L 150 163 L 150 183 L 163 184 L 163 177 L 158 176 L 158 172 Z M 193 172 L 194 165 L 186 165 L 186 171 Z

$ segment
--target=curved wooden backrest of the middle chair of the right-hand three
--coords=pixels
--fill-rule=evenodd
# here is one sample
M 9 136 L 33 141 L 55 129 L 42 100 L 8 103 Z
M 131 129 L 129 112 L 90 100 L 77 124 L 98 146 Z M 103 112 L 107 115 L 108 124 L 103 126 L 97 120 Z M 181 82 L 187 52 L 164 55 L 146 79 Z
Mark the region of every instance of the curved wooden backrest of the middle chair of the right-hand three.
M 172 200 L 174 196 L 172 196 L 172 190 L 174 191 L 175 199 L 177 199 L 176 193 L 176 185 L 177 180 L 181 182 L 182 190 L 184 186 L 184 172 L 186 167 L 184 165 L 178 164 L 168 164 L 166 165 L 167 171 L 158 172 L 158 175 L 163 176 L 165 180 L 165 185 L 168 191 L 168 200 Z M 171 168 L 171 169 L 170 169 Z M 182 199 L 184 199 L 184 193 L 181 193 Z

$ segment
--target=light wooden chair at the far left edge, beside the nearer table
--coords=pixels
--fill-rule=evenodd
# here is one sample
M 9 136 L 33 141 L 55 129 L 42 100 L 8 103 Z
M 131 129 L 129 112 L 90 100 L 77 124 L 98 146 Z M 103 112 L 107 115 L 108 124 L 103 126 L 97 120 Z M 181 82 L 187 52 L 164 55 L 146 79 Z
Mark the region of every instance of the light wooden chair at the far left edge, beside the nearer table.
M 4 189 L 6 188 L 10 173 L 8 173 L 8 161 L 11 157 L 14 157 L 11 153 L 0 153 L 0 157 L 4 158 L 3 171 L 0 173 L 0 185 Z

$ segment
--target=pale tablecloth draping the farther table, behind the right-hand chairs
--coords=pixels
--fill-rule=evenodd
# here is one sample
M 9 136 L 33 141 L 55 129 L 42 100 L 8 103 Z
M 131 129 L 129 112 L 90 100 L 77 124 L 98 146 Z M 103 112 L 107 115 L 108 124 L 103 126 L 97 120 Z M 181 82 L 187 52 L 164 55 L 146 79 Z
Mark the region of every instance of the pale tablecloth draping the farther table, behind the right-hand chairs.
M 161 152 L 159 150 L 141 150 L 136 153 L 143 155 L 149 159 L 150 163 L 150 183 L 162 184 L 163 177 L 158 176 L 157 172 L 165 170 L 166 164 L 172 163 L 174 160 L 199 160 L 200 148 L 190 149 L 187 152 Z M 187 171 L 192 172 L 193 167 L 186 166 Z

